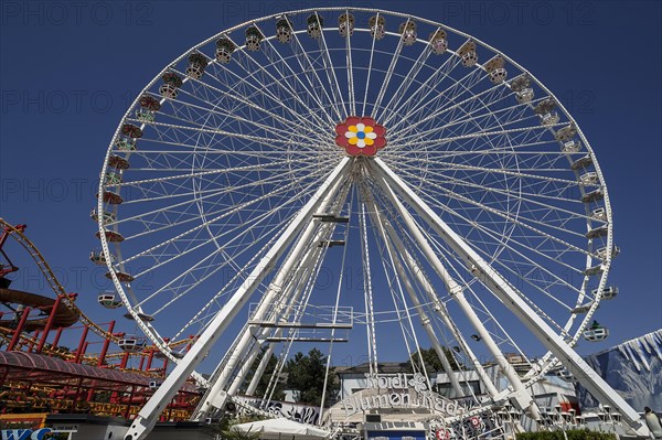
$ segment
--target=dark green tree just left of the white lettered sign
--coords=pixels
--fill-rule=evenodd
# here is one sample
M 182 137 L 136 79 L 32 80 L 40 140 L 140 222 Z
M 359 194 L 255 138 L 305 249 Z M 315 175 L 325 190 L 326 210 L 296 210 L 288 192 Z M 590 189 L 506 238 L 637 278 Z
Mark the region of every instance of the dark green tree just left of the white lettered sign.
M 299 403 L 320 405 L 327 374 L 327 357 L 322 352 L 317 348 L 312 348 L 308 355 L 299 352 L 287 362 L 285 371 L 287 372 L 287 387 L 298 391 Z M 339 390 L 340 382 L 335 374 L 335 367 L 330 367 L 324 399 L 327 406 L 335 401 Z

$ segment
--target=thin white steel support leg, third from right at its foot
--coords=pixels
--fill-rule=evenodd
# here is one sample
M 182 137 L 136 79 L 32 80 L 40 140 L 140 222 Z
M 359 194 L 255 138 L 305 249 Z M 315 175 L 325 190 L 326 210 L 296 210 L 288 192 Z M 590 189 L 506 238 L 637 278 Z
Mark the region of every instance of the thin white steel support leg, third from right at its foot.
M 405 248 L 403 240 L 401 239 L 401 237 L 397 235 L 397 233 L 393 228 L 393 225 L 391 225 L 388 222 L 384 222 L 384 227 L 386 228 L 386 232 L 388 233 L 391 240 L 395 244 L 397 251 L 403 256 L 405 264 L 409 268 L 409 272 L 414 273 L 416 281 L 418 281 L 418 283 L 420 285 L 423 290 L 428 296 L 428 299 L 435 304 L 435 310 L 441 318 L 441 321 L 450 330 L 450 332 L 455 336 L 458 344 L 460 344 L 462 352 L 471 361 L 471 364 L 473 365 L 473 368 L 476 369 L 478 377 L 481 379 L 481 382 L 485 386 L 488 394 L 490 395 L 490 397 L 492 397 L 492 399 L 495 399 L 499 396 L 499 390 L 492 383 L 492 379 L 490 378 L 490 376 L 488 375 L 488 373 L 481 365 L 480 361 L 478 359 L 478 357 L 476 356 L 476 354 L 473 353 L 473 351 L 471 350 L 469 344 L 467 344 L 467 341 L 462 336 L 458 326 L 450 319 L 448 309 L 446 309 L 446 305 L 439 300 L 439 297 L 437 296 L 435 288 L 430 285 L 430 282 L 423 275 L 424 273 L 423 269 L 418 266 L 418 262 L 412 256 L 412 254 Z M 444 283 L 449 292 L 455 286 L 457 286 L 457 282 L 455 282 L 455 280 L 452 280 L 452 278 L 450 278 L 449 275 L 444 280 Z

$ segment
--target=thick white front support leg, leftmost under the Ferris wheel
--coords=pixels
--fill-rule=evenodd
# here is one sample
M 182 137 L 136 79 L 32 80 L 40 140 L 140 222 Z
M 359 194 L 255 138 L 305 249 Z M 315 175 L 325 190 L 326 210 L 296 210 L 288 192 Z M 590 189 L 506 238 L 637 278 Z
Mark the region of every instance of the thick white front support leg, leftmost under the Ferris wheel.
M 246 282 L 237 289 L 237 291 L 227 300 L 225 305 L 216 313 L 197 341 L 195 341 L 189 353 L 186 353 L 177 367 L 168 375 L 159 389 L 157 389 L 148 403 L 142 407 L 138 417 L 132 421 L 127 431 L 125 440 L 143 440 L 152 430 L 159 420 L 161 411 L 172 398 L 174 398 L 197 364 L 200 364 L 209 354 L 211 347 L 218 341 L 218 337 L 221 337 L 232 319 L 239 312 L 246 301 L 248 301 L 250 293 L 255 291 L 257 286 L 259 286 L 270 272 L 275 262 L 282 256 L 297 233 L 299 233 L 307 223 L 307 219 L 312 217 L 314 210 L 322 203 L 330 190 L 346 174 L 349 165 L 350 159 L 344 158 L 331 174 L 329 174 L 327 180 L 320 185 L 308 203 L 299 211 L 292 222 L 289 223 L 288 227 L 282 232 L 278 240 L 276 240 L 271 249 L 269 249 L 255 269 L 253 269 L 246 279 Z

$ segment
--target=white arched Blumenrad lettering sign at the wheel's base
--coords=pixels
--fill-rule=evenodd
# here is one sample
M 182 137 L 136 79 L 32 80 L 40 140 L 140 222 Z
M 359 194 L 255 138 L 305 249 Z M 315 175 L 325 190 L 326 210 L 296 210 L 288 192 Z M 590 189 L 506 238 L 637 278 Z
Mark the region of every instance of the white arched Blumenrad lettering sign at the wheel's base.
M 371 409 L 427 409 L 444 416 L 457 416 L 463 408 L 456 401 L 433 393 L 427 379 L 415 374 L 365 374 L 367 387 L 340 403 L 345 416 Z

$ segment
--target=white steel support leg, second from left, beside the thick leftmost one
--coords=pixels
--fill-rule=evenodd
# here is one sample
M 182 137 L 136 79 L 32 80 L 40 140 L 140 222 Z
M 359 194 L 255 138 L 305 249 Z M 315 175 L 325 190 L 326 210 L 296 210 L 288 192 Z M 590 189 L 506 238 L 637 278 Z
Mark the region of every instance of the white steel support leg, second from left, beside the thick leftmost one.
M 341 182 L 340 179 L 335 180 L 333 182 L 333 185 L 330 186 L 331 190 L 328 191 L 327 196 L 320 201 L 317 208 L 323 211 L 330 205 L 333 194 L 340 187 L 340 182 Z M 286 285 L 287 285 L 288 278 L 292 273 L 292 270 L 298 265 L 300 265 L 302 260 L 303 260 L 303 264 L 307 264 L 309 260 L 309 257 L 312 254 L 314 254 L 313 251 L 309 250 L 310 249 L 309 246 L 310 246 L 311 238 L 314 239 L 314 235 L 316 235 L 316 230 L 318 229 L 318 225 L 312 219 L 311 216 L 308 216 L 308 221 L 305 221 L 305 222 L 306 222 L 306 228 L 299 236 L 297 243 L 295 244 L 292 250 L 289 253 L 288 257 L 285 259 L 282 265 L 280 266 L 280 269 L 278 270 L 275 280 L 269 283 L 269 286 L 264 294 L 263 300 L 260 301 L 257 310 L 254 312 L 254 314 L 252 316 L 253 320 L 265 319 L 267 312 L 271 308 L 273 302 L 276 300 L 276 298 L 278 296 L 282 296 L 285 293 L 284 289 L 287 289 Z M 306 255 L 306 257 L 302 258 L 303 255 Z M 245 375 L 248 373 L 248 368 L 245 368 L 246 359 L 244 357 L 244 353 L 246 352 L 246 350 L 248 348 L 248 346 L 253 340 L 253 333 L 250 330 L 252 330 L 250 328 L 247 328 L 244 331 L 244 333 L 242 334 L 242 339 L 239 340 L 239 343 L 237 344 L 236 348 L 234 350 L 234 353 L 227 354 L 227 355 L 229 355 L 228 362 L 225 365 L 224 371 L 221 373 L 221 375 L 217 376 L 215 383 L 210 384 L 211 388 L 206 393 L 204 400 L 200 404 L 197 411 L 195 412 L 195 415 L 193 417 L 194 420 L 199 420 L 199 421 L 204 420 L 209 416 L 210 411 L 212 411 L 213 408 L 223 408 L 223 406 L 225 405 L 225 401 L 227 400 L 227 397 L 228 397 L 228 393 L 224 391 L 223 389 L 227 385 L 227 382 L 229 380 L 231 375 L 233 374 L 233 372 L 236 371 L 237 367 L 241 366 L 237 379 L 243 380 Z M 248 356 L 249 356 L 248 359 L 250 359 L 250 354 Z M 255 356 L 257 356 L 257 353 L 255 353 Z M 255 356 L 253 356 L 253 361 L 255 361 Z M 235 386 L 235 391 L 236 391 L 236 389 L 238 389 L 239 385 L 241 385 L 241 383 Z M 231 393 L 231 395 L 232 395 L 232 393 Z

